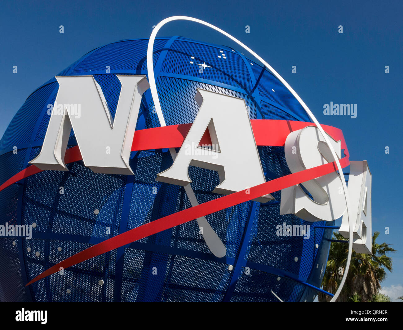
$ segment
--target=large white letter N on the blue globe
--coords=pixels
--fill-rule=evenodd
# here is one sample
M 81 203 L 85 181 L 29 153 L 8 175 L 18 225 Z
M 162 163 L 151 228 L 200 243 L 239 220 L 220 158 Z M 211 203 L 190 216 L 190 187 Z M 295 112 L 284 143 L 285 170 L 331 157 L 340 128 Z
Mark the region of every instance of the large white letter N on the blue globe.
M 71 129 L 85 166 L 96 173 L 133 174 L 129 167 L 141 96 L 150 87 L 144 75 L 117 75 L 122 88 L 114 120 L 93 76 L 59 76 L 55 104 L 81 106 L 79 116 L 53 107 L 39 155 L 29 163 L 41 170 L 67 170 L 64 163 Z M 110 153 L 105 148 L 110 147 Z

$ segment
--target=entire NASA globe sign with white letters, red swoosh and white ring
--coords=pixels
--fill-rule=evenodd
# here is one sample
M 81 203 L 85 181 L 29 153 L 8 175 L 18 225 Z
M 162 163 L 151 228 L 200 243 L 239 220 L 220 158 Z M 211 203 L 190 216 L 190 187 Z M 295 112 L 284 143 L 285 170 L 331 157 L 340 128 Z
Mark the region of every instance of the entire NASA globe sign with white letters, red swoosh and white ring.
M 205 53 L 195 54 L 195 41 L 178 37 L 156 40 L 158 30 L 173 20 L 193 21 L 223 33 L 248 50 L 263 67 L 231 48 L 204 45 L 220 52 L 212 60 Z M 154 49 L 156 41 L 158 52 Z M 112 47 L 122 47 L 125 42 Z M 42 117 L 36 124 L 37 131 L 42 127 L 43 138 L 35 146 L 31 142 L 24 158 L 31 166 L 0 186 L 0 193 L 4 193 L 23 183 L 20 213 L 14 216 L 14 222 L 21 225 L 35 220 L 40 228 L 36 232 L 33 229 L 32 240 L 47 242 L 43 246 L 46 259 L 35 270 L 31 268 L 32 263 L 38 264 L 35 259 L 19 252 L 20 263 L 30 260 L 24 264 L 27 272 L 21 269 L 27 294 L 38 297 L 43 286 L 42 290 L 56 299 L 60 286 L 69 286 L 71 294 L 77 285 L 95 285 L 103 299 L 110 297 L 114 301 L 283 301 L 285 296 L 288 301 L 312 301 L 318 292 L 325 293 L 320 289 L 320 280 L 335 220 L 342 218 L 339 231 L 349 238 L 346 269 L 352 249 L 371 253 L 370 170 L 366 161 L 349 160 L 339 129 L 320 125 L 268 63 L 209 23 L 171 17 L 160 22 L 146 42 L 147 54 L 139 56 L 136 70 L 117 68 L 105 75 L 99 68 L 107 60 L 89 70 L 91 66 L 85 58 L 82 65 L 76 64 L 68 74 L 57 75 L 48 84 L 55 86 L 53 95 L 47 96 L 52 102 L 41 107 Z M 179 49 L 182 44 L 187 48 Z M 103 58 L 110 60 L 113 48 L 108 45 L 100 49 Z M 230 53 L 225 56 L 224 52 Z M 158 60 L 153 54 L 158 54 Z M 184 84 L 184 72 L 172 72 L 174 67 L 164 62 L 170 56 L 183 67 L 187 63 L 183 69 L 186 72 L 203 69 L 202 73 L 193 73 L 196 83 Z M 146 70 L 141 58 L 147 60 Z M 204 65 L 191 66 L 195 58 Z M 227 68 L 246 65 L 250 87 L 245 87 L 248 79 L 240 83 L 242 71 L 232 79 L 237 81 L 235 85 L 228 79 L 230 73 L 225 73 L 225 83 L 216 73 L 214 76 L 213 70 L 223 70 L 218 62 L 222 59 L 232 61 Z M 262 85 L 262 77 L 263 83 L 266 79 L 266 85 L 271 87 L 270 93 Z M 170 83 L 172 79 L 180 82 Z M 165 94 L 163 104 L 169 103 L 170 107 L 161 106 L 158 84 L 160 93 Z M 288 106 L 297 110 L 292 112 Z M 183 120 L 178 120 L 183 116 L 175 110 L 179 108 L 185 111 Z M 282 114 L 276 116 L 276 111 Z M 144 163 L 147 158 L 150 161 Z M 1 158 L 0 164 L 4 166 Z M 347 166 L 348 188 L 343 174 Z M 46 173 L 51 176 L 43 176 L 40 187 L 38 182 L 30 185 L 31 180 Z M 46 208 L 50 214 L 30 213 L 31 204 L 43 208 L 47 203 L 31 193 L 32 189 L 46 191 L 56 185 L 60 185 L 56 197 L 46 197 L 53 200 L 52 206 Z M 73 185 L 79 187 L 78 192 L 70 189 Z M 88 197 L 85 187 L 91 185 L 93 196 Z M 67 198 L 69 194 L 70 198 L 75 196 L 70 205 L 79 205 L 76 208 L 67 206 L 69 200 L 64 200 L 64 195 Z M 81 203 L 80 198 L 88 202 Z M 94 201 L 104 205 L 96 209 L 98 213 L 94 211 L 96 217 L 87 208 Z M 39 217 L 30 218 L 29 214 Z M 75 232 L 77 227 L 67 219 L 91 223 L 93 231 L 83 235 L 82 228 L 88 225 L 81 225 Z M 195 219 L 197 226 L 189 227 Z M 56 223 L 62 228 L 55 227 Z M 301 235 L 286 230 L 292 224 L 294 232 L 295 228 L 303 230 Z M 66 231 L 66 226 L 76 229 Z M 281 247 L 274 243 L 280 239 L 276 236 L 278 226 L 284 229 Z M 220 229 L 224 227 L 224 231 Z M 102 228 L 106 228 L 106 237 L 97 231 Z M 68 252 L 53 256 L 56 245 L 63 245 L 63 241 L 74 244 L 66 244 Z M 27 243 L 19 244 L 19 249 L 24 244 L 28 253 L 32 251 Z M 78 248 L 79 244 L 86 246 Z M 314 246 L 314 253 L 309 252 Z M 299 255 L 293 256 L 297 250 Z M 57 251 L 64 248 L 58 246 Z M 133 253 L 134 259 L 130 259 Z M 110 261 L 99 259 L 105 255 L 113 259 L 113 274 Z M 282 255 L 280 259 L 284 261 L 276 260 L 276 255 Z M 91 260 L 96 262 L 91 276 L 100 278 L 99 286 L 109 281 L 113 293 L 97 284 L 86 286 L 85 281 L 74 284 L 66 279 L 65 274 L 81 274 L 79 265 Z M 97 270 L 102 263 L 103 270 Z M 130 268 L 133 263 L 141 266 Z M 194 272 L 200 271 L 206 276 L 195 277 Z M 208 284 L 208 274 L 212 272 L 218 274 L 218 279 Z M 335 295 L 326 293 L 333 296 L 332 301 L 337 299 L 346 275 L 347 271 Z M 262 293 L 248 291 L 250 280 L 262 283 Z M 131 288 L 128 292 L 126 286 Z M 191 291 L 199 295 L 186 294 Z M 68 301 L 68 296 L 56 300 Z

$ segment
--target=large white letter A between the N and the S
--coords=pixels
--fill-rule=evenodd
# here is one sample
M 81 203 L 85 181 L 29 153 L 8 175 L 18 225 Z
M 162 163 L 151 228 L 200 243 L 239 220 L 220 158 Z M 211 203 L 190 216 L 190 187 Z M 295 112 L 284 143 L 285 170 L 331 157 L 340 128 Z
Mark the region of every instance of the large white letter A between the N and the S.
M 265 183 L 258 148 L 246 111 L 245 100 L 197 89 L 200 106 L 173 165 L 157 174 L 157 181 L 186 186 L 191 183 L 189 165 L 218 172 L 220 184 L 214 193 L 227 195 Z M 201 152 L 200 139 L 208 129 L 218 148 Z M 274 199 L 268 194 L 258 198 L 265 203 Z

